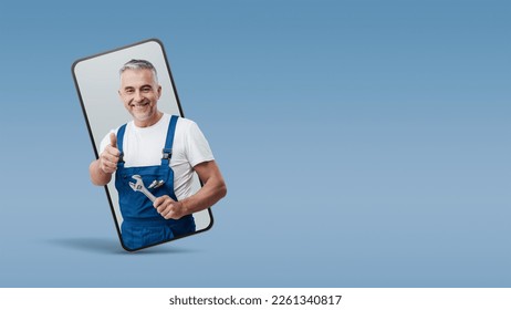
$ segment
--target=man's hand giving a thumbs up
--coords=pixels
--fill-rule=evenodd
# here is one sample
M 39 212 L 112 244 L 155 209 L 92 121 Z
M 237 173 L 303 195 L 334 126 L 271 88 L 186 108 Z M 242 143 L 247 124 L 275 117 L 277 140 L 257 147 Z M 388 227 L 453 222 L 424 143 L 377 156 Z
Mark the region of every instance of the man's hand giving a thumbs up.
M 117 149 L 117 137 L 109 134 L 109 144 L 101 153 L 100 158 L 88 166 L 92 184 L 103 186 L 111 182 L 112 174 L 117 169 L 121 152 Z

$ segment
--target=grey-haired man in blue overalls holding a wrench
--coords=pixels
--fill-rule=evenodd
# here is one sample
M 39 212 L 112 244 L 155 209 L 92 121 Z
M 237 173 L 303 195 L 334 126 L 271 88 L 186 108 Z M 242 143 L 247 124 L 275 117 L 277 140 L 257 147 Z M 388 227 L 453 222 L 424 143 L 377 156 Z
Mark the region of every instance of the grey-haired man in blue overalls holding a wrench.
M 157 73 L 145 60 L 131 60 L 121 70 L 118 94 L 133 121 L 107 134 L 100 158 L 92 162 L 92 183 L 108 184 L 115 173 L 123 214 L 123 244 L 137 249 L 195 231 L 191 214 L 227 194 L 222 175 L 199 127 L 192 121 L 158 110 Z M 191 195 L 194 172 L 204 186 Z M 156 199 L 135 192 L 139 175 Z

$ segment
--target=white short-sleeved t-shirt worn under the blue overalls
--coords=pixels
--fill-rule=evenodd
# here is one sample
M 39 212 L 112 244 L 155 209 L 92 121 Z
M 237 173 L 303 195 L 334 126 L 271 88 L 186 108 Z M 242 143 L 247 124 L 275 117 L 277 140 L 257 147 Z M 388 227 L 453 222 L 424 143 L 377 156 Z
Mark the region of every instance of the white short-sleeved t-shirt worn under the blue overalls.
M 123 144 L 126 168 L 161 164 L 161 149 L 165 146 L 170 116 L 164 114 L 158 123 L 149 127 L 137 127 L 133 121 L 127 123 Z M 117 134 L 117 130 L 111 133 Z M 100 154 L 109 143 L 108 133 L 101 142 Z M 179 200 L 189 197 L 192 193 L 194 167 L 213 159 L 208 141 L 199 126 L 190 120 L 179 117 L 170 159 L 170 168 L 174 170 L 174 192 Z

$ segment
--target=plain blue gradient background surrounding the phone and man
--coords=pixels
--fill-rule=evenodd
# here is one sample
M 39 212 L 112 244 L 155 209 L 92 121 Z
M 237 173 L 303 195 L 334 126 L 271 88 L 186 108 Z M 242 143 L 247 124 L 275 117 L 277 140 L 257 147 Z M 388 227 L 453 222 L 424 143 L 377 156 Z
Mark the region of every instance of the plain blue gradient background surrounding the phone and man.
M 1 287 L 511 286 L 509 1 L 1 11 Z M 71 64 L 149 38 L 229 193 L 210 231 L 127 254 Z

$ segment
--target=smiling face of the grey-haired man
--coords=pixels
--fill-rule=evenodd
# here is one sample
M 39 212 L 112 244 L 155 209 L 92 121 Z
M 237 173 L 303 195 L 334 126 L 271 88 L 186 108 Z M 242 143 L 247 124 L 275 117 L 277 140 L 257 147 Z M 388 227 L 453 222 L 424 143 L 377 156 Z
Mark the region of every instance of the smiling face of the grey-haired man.
M 157 108 L 161 86 L 156 82 L 152 70 L 125 70 L 121 74 L 118 93 L 137 127 L 154 125 L 161 117 Z

